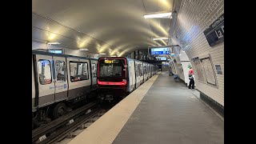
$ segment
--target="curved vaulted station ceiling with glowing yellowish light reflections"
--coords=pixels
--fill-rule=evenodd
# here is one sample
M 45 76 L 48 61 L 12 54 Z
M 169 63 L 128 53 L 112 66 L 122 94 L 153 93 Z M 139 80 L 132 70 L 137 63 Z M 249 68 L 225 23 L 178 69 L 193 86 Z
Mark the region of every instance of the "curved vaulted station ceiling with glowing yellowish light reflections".
M 172 19 L 144 14 L 172 11 L 174 0 L 33 0 L 32 40 L 70 49 L 126 56 L 148 46 L 165 46 Z

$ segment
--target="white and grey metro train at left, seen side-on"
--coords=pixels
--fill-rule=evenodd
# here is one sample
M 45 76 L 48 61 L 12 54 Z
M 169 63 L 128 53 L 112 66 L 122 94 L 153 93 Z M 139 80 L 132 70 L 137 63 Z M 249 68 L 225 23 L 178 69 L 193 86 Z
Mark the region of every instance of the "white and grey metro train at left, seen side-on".
M 97 59 L 32 50 L 32 127 L 97 97 Z

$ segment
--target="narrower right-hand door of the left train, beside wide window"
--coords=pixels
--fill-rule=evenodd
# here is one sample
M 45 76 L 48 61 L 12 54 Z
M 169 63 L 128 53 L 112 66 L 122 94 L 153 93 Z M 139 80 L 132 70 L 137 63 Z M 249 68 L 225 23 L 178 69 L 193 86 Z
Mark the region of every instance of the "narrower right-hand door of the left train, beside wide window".
M 54 57 L 55 101 L 67 98 L 66 58 Z

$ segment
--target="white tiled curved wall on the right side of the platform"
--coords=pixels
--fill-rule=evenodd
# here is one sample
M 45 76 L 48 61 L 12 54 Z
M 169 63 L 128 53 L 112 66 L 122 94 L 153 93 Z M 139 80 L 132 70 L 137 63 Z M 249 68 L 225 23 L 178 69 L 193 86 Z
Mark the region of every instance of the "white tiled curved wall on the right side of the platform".
M 182 46 L 190 61 L 191 58 L 210 54 L 213 65 L 222 67 L 222 74 L 217 74 L 214 69 L 218 86 L 198 82 L 197 72 L 194 69 L 197 89 L 222 106 L 224 106 L 224 42 L 209 46 L 203 31 L 223 13 L 224 0 L 182 0 L 177 24 L 170 41 L 171 44 Z M 193 62 L 191 64 L 194 65 Z

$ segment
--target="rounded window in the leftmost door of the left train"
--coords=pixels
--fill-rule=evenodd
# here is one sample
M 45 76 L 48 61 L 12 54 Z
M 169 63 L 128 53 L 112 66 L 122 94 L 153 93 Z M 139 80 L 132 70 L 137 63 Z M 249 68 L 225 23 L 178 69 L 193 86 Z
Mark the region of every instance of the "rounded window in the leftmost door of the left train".
M 38 77 L 41 85 L 47 85 L 52 82 L 49 60 L 38 60 Z

